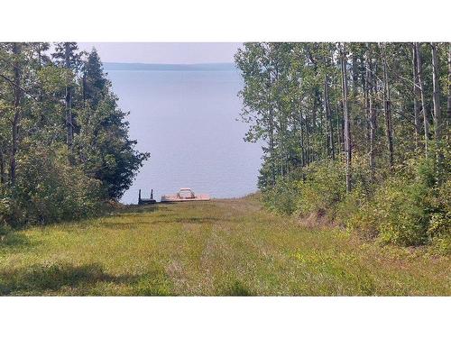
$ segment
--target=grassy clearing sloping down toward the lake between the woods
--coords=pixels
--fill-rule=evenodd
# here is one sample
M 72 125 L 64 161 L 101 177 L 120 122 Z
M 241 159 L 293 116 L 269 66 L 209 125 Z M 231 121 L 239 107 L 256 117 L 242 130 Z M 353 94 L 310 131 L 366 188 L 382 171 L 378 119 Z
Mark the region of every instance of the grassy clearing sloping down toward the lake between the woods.
M 451 296 L 451 260 L 301 225 L 250 196 L 10 233 L 0 294 Z

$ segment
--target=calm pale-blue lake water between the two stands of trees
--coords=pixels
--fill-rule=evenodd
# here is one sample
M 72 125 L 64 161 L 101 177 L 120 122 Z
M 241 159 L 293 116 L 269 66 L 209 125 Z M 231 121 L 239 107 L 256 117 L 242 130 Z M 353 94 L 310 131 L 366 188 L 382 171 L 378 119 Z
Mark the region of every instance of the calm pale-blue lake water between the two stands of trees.
M 151 159 L 123 197 L 136 203 L 138 189 L 154 198 L 179 187 L 212 197 L 256 190 L 261 149 L 243 141 L 237 71 L 109 70 L 119 105 L 130 111 L 130 135 Z

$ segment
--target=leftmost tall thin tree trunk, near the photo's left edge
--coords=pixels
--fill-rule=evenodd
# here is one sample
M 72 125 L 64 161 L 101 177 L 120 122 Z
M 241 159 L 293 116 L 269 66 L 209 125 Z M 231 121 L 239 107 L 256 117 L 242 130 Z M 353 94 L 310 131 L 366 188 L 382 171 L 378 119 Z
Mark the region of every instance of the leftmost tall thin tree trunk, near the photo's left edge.
M 15 156 L 19 150 L 19 123 L 22 117 L 21 100 L 21 69 L 19 57 L 21 54 L 21 45 L 18 42 L 13 43 L 14 54 L 14 118 L 12 125 L 12 139 L 11 139 L 11 160 L 10 160 L 10 178 L 11 185 L 15 184 L 16 159 Z

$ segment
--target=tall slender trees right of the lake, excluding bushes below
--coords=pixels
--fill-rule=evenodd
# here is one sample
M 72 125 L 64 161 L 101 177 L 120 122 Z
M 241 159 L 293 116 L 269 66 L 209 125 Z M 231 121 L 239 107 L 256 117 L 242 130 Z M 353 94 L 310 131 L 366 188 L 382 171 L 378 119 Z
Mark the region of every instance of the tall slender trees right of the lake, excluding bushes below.
M 364 187 L 367 200 L 412 162 L 433 167 L 431 188 L 448 182 L 448 42 L 252 42 L 235 63 L 263 190 L 319 162 L 342 164 L 346 194 Z

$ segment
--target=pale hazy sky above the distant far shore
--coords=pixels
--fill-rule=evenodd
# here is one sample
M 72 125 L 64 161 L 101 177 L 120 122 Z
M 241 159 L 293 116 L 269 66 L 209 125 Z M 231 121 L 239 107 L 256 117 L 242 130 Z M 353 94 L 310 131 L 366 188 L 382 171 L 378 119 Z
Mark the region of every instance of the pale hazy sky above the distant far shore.
M 78 42 L 80 50 L 96 47 L 103 62 L 233 62 L 241 43 L 234 42 Z

